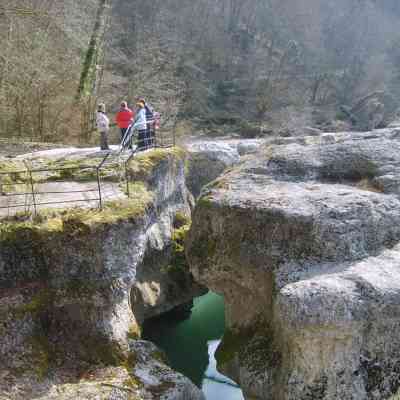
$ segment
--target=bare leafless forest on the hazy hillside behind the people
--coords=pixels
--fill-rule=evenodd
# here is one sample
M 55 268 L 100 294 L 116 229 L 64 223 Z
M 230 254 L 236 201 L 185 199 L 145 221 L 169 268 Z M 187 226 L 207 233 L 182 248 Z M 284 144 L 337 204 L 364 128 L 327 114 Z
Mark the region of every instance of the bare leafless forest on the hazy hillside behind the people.
M 89 143 L 99 101 L 139 96 L 178 135 L 383 127 L 399 20 L 398 0 L 0 0 L 0 137 Z

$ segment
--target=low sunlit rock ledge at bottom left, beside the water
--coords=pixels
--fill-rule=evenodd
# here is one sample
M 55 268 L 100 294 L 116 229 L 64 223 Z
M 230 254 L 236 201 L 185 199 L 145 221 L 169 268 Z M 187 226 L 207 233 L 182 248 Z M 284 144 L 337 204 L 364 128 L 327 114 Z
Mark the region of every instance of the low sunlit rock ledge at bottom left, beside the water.
M 164 354 L 152 343 L 130 341 L 130 352 L 124 366 L 94 366 L 79 377 L 64 376 L 66 383 L 47 379 L 47 387 L 31 385 L 28 396 L 38 400 L 204 400 L 188 378 L 166 365 Z M 18 384 L 7 399 L 18 398 L 17 389 Z

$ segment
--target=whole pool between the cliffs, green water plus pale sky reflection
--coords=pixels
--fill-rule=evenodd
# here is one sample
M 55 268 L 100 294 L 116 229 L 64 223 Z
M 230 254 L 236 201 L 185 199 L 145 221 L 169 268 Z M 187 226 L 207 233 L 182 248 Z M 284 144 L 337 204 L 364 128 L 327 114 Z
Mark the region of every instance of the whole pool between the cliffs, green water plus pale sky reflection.
M 144 338 L 162 348 L 171 366 L 202 387 L 207 400 L 243 399 L 234 382 L 218 373 L 214 352 L 225 329 L 224 300 L 209 292 L 194 301 L 189 319 L 147 322 Z

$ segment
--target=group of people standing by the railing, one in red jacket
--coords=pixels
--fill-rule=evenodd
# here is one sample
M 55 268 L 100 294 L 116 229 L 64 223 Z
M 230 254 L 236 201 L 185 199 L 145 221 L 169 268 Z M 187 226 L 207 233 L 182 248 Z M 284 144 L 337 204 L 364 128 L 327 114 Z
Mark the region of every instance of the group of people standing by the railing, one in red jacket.
M 157 120 L 154 111 L 146 104 L 144 99 L 139 99 L 136 106 L 136 110 L 131 110 L 128 103 L 123 101 L 115 116 L 115 122 L 121 132 L 121 145 L 128 145 L 129 148 L 132 148 L 133 132 L 137 131 L 137 150 L 144 150 L 155 145 Z M 96 123 L 100 133 L 100 147 L 102 150 L 109 150 L 110 120 L 106 115 L 104 104 L 98 106 Z

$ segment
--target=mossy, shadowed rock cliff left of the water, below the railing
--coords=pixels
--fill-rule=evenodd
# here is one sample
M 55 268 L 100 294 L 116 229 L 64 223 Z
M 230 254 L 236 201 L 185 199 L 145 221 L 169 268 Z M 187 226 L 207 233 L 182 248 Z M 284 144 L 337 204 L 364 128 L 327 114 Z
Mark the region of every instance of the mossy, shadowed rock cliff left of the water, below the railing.
M 184 154 L 156 150 L 134 159 L 128 166 L 130 198 L 118 176 L 113 167 L 105 171 L 103 179 L 117 196 L 105 201 L 102 212 L 42 209 L 33 221 L 25 215 L 2 221 L 1 395 L 202 398 L 188 379 L 164 364 L 161 353 L 136 341 L 147 314 L 204 290 L 174 259 L 174 240 L 190 215 Z M 56 178 L 68 186 L 75 180 L 88 185 L 93 177 L 87 171 L 46 176 L 37 184 Z M 152 264 L 154 253 L 163 257 L 163 265 Z

